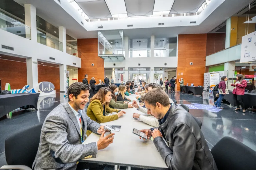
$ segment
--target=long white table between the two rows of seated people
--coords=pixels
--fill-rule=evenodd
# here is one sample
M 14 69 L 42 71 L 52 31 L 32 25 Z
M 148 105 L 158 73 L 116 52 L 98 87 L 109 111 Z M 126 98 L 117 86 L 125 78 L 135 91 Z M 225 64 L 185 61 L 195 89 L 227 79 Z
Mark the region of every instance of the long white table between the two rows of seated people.
M 130 100 L 138 100 L 135 95 L 126 96 Z M 159 152 L 157 151 L 153 141 L 146 141 L 139 138 L 132 131 L 133 128 L 138 130 L 152 128 L 143 122 L 132 121 L 133 113 L 145 115 L 136 110 L 136 108 L 121 109 L 126 112 L 126 115 L 118 120 L 101 123 L 101 125 L 121 125 L 120 131 L 115 133 L 113 143 L 105 149 L 99 150 L 96 158 L 81 159 L 80 162 L 99 163 L 106 165 L 138 167 L 144 169 L 168 169 Z M 149 116 L 149 115 L 145 115 Z M 83 144 L 97 142 L 100 135 L 91 133 Z

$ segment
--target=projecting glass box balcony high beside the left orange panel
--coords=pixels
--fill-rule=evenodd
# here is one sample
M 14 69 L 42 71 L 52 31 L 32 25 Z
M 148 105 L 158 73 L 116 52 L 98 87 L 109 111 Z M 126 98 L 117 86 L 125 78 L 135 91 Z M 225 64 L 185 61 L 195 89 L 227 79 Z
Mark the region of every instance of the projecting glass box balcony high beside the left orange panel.
M 122 30 L 98 32 L 98 55 L 124 53 Z

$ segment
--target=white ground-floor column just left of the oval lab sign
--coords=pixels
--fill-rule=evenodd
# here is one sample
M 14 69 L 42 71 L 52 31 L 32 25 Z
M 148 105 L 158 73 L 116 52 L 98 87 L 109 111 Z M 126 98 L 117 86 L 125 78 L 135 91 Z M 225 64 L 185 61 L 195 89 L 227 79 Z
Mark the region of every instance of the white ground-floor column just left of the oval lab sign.
M 37 58 L 27 58 L 27 83 L 29 84 L 29 89 L 34 88 L 38 92 Z

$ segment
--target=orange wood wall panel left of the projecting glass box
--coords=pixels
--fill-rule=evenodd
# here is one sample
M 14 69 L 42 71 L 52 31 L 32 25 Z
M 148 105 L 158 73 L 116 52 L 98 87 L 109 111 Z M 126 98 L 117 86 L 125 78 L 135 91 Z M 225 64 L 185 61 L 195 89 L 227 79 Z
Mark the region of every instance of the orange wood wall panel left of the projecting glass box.
M 88 82 L 94 77 L 97 84 L 99 79 L 104 81 L 104 60 L 98 57 L 98 39 L 78 39 L 78 50 L 81 54 L 81 68 L 78 68 L 78 81 L 82 82 L 84 75 L 88 74 Z M 94 63 L 94 66 L 91 64 Z

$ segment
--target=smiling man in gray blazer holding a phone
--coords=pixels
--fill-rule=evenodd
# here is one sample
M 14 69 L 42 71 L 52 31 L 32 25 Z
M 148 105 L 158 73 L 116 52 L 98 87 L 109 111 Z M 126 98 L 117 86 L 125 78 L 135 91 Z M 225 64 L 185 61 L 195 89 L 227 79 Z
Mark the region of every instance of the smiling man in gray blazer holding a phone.
M 106 148 L 114 139 L 114 133 L 104 137 L 104 126 L 86 115 L 84 108 L 89 101 L 89 90 L 89 84 L 71 84 L 68 102 L 57 106 L 46 117 L 33 169 L 104 169 L 105 165 L 78 162 L 79 159 L 95 158 L 97 151 Z M 86 130 L 101 134 L 99 141 L 82 144 Z

